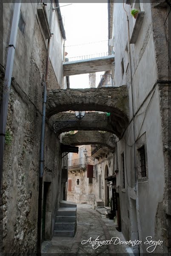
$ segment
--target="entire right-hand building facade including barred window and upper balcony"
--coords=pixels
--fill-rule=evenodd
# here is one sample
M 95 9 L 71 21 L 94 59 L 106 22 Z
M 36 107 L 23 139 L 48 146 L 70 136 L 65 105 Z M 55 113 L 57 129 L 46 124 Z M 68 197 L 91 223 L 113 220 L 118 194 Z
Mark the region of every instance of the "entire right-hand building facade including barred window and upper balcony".
M 139 11 L 136 19 L 132 9 Z M 114 86 L 126 84 L 129 91 L 129 125 L 116 140 L 122 232 L 127 240 L 142 241 L 133 248 L 140 253 L 147 252 L 148 236 L 163 241 L 156 253 L 167 253 L 170 247 L 168 9 L 165 1 L 110 3 Z

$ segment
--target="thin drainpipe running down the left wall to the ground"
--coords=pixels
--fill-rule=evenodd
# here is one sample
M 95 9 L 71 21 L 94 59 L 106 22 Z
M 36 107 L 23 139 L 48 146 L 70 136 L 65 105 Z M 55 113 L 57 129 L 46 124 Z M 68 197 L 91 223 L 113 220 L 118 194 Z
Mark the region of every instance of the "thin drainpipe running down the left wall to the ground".
M 50 49 L 50 39 L 48 39 L 48 46 L 47 46 L 46 73 L 45 73 L 45 85 L 44 85 L 43 108 L 42 108 L 38 221 L 37 221 L 37 255 L 41 255 L 42 187 L 43 187 L 43 172 L 44 172 L 45 115 L 46 115 L 46 98 L 47 98 L 47 85 L 48 85 L 49 49 Z

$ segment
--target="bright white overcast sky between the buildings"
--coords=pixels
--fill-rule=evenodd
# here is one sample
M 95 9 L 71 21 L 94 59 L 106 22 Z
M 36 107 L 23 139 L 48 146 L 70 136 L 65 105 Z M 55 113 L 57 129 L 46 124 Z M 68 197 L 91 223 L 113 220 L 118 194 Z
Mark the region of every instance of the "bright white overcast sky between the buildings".
M 65 51 L 72 57 L 108 52 L 108 9 L 107 3 L 60 3 L 66 31 Z M 88 43 L 88 44 L 87 44 Z M 79 58 L 77 58 L 79 59 Z M 100 74 L 96 73 L 96 86 Z M 88 74 L 70 76 L 70 88 L 88 88 Z

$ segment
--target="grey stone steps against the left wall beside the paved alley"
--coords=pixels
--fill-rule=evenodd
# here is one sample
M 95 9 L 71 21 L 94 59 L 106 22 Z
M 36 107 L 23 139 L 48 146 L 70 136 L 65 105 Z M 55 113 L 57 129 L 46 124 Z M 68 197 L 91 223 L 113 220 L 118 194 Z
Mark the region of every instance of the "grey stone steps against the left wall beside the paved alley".
M 77 204 L 68 201 L 60 202 L 54 226 L 54 236 L 73 237 L 75 235 L 77 227 L 76 213 Z

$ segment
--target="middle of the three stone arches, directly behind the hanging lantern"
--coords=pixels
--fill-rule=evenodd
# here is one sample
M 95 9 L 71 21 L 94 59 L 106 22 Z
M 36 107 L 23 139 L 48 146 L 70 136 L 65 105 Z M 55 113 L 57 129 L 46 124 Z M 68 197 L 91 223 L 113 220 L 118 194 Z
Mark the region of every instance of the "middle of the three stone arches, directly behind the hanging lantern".
M 77 120 L 74 113 L 62 112 L 57 115 L 51 116 L 52 120 L 59 120 L 60 122 L 54 123 L 54 131 L 61 134 L 66 131 L 108 131 L 121 137 L 127 121 L 112 116 L 106 116 L 106 113 L 86 112 L 81 120 Z M 74 120 L 75 122 L 66 122 L 65 120 Z

